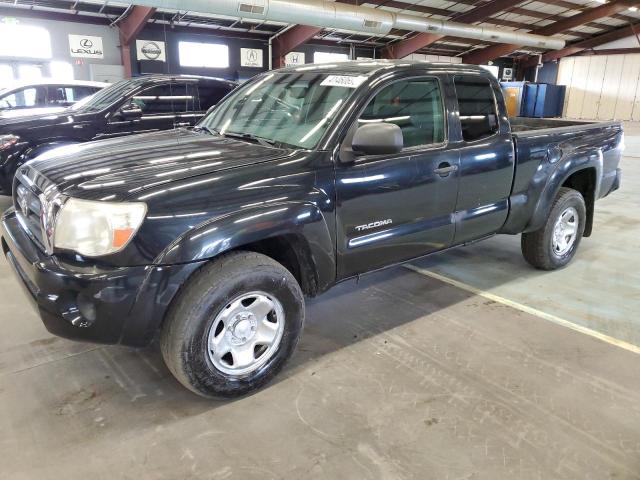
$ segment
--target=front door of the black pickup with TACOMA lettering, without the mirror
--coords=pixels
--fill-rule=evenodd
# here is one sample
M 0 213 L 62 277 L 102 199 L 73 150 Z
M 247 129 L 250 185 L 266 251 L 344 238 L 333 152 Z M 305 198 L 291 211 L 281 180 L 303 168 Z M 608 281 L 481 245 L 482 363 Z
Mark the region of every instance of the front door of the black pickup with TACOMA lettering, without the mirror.
M 443 81 L 425 76 L 387 84 L 349 130 L 336 165 L 339 278 L 452 244 L 459 155 L 447 142 Z M 350 151 L 353 132 L 371 122 L 398 125 L 402 151 Z

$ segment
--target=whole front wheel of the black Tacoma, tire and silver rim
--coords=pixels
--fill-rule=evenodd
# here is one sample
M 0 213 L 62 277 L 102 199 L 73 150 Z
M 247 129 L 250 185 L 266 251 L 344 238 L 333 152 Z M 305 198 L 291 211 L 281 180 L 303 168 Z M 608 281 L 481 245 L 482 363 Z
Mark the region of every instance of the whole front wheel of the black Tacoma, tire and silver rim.
M 185 387 L 205 397 L 237 397 L 270 381 L 293 354 L 304 298 L 271 258 L 234 252 L 185 286 L 162 328 L 162 354 Z

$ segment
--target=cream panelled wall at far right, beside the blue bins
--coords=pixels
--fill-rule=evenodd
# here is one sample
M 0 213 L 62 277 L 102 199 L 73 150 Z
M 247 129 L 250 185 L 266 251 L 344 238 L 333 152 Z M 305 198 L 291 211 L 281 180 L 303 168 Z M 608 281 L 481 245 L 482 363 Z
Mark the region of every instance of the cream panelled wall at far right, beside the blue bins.
M 640 54 L 563 58 L 557 83 L 568 118 L 640 121 Z

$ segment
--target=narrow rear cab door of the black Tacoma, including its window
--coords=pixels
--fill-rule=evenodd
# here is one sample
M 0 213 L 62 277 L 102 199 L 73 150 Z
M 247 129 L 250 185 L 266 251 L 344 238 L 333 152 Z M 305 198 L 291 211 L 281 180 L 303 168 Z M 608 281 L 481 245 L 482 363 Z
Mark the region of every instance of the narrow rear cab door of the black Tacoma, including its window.
M 509 214 L 515 153 L 511 126 L 498 83 L 489 74 L 453 75 L 460 188 L 454 244 L 491 235 Z

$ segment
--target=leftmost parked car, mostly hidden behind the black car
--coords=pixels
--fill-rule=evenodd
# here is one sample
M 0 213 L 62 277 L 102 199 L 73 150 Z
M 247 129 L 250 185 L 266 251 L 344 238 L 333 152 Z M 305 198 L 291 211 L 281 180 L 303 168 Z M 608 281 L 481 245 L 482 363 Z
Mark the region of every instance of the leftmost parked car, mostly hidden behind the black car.
M 0 90 L 0 113 L 32 110 L 52 113 L 108 86 L 108 83 L 81 80 L 14 82 Z

